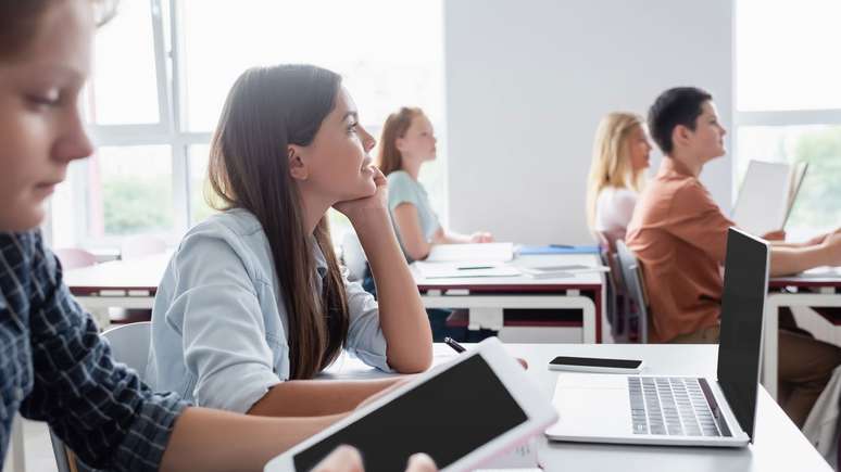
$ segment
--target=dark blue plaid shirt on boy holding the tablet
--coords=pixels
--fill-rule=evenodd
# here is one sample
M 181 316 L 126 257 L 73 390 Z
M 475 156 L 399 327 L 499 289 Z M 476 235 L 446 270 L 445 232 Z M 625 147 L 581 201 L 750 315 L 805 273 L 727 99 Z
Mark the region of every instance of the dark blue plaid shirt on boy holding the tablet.
M 153 394 L 110 353 L 40 233 L 0 232 L 0 463 L 20 410 L 89 465 L 158 470 L 185 404 Z

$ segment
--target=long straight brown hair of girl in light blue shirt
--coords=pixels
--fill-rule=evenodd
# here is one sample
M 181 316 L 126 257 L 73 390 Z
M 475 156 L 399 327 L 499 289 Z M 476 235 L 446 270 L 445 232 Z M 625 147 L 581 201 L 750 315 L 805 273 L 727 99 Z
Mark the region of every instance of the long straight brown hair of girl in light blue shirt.
M 289 318 L 289 375 L 309 379 L 332 362 L 348 335 L 344 283 L 327 219 L 315 243 L 327 260 L 317 294 L 312 240 L 289 175 L 289 144 L 309 145 L 332 111 L 339 75 L 312 65 L 246 71 L 234 84 L 211 141 L 209 178 L 217 209 L 252 213 L 268 239 Z

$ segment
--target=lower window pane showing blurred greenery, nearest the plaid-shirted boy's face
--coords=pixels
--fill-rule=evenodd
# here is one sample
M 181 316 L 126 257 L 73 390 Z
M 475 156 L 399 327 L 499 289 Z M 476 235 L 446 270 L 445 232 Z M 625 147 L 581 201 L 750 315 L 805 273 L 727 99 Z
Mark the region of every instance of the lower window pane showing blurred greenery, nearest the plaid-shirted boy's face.
M 92 238 L 173 231 L 168 145 L 103 146 L 88 162 L 88 233 Z

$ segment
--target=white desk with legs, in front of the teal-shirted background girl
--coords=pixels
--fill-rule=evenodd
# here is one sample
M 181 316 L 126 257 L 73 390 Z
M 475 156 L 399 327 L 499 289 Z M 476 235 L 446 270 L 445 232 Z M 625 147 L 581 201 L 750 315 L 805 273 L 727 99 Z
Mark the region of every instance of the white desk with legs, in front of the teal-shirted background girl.
M 514 267 L 601 266 L 597 254 L 553 254 L 517 256 Z M 499 331 L 503 308 L 580 309 L 585 343 L 602 342 L 603 272 L 578 273 L 565 278 L 472 277 L 427 279 L 411 266 L 421 298 L 427 308 L 468 308 L 468 328 Z

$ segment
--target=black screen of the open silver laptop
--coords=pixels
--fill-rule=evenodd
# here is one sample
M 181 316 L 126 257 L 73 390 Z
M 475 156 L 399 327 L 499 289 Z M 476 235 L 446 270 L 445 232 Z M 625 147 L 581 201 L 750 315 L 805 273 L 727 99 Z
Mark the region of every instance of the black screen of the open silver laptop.
M 727 233 L 718 383 L 753 442 L 760 383 L 763 310 L 768 291 L 768 245 L 730 228 Z

